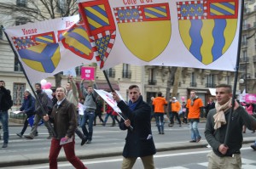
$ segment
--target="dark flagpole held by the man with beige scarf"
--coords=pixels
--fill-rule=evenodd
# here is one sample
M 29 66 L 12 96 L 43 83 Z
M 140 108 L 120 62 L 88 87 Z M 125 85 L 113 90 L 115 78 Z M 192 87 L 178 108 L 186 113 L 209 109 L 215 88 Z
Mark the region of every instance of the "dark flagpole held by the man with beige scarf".
M 238 1 L 239 3 L 239 1 Z M 235 80 L 234 80 L 234 87 L 233 87 L 233 95 L 232 95 L 232 107 L 230 109 L 230 116 L 227 124 L 227 130 L 225 133 L 224 138 L 224 145 L 228 146 L 229 137 L 230 137 L 230 123 L 232 122 L 233 111 L 235 107 L 235 98 L 236 98 L 236 85 L 237 85 L 237 77 L 238 77 L 238 70 L 239 70 L 239 62 L 240 62 L 240 52 L 241 52 L 241 31 L 242 31 L 242 21 L 243 21 L 243 9 L 244 9 L 244 0 L 241 0 L 241 14 L 240 14 L 240 23 L 239 23 L 239 37 L 238 37 L 238 47 L 237 47 L 237 54 L 236 54 L 236 71 L 235 71 Z

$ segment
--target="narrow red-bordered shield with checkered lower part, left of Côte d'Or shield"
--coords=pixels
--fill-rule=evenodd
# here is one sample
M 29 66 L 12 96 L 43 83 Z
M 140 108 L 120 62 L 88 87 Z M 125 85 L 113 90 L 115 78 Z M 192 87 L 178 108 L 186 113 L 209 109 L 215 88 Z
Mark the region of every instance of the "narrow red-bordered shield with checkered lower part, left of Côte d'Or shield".
M 108 0 L 79 3 L 79 12 L 88 31 L 94 56 L 102 68 L 116 37 L 116 28 Z

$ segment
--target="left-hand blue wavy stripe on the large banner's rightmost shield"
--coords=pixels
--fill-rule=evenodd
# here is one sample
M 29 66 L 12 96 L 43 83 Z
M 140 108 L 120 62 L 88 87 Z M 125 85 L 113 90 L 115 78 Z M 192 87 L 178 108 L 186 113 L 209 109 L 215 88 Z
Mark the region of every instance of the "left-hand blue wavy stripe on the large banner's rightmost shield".
M 201 20 L 190 20 L 191 22 L 191 28 L 189 30 L 189 35 L 191 37 L 191 46 L 189 48 L 189 51 L 191 54 L 195 56 L 196 59 L 202 60 L 201 56 L 201 44 L 202 44 L 202 38 L 201 38 L 201 27 L 202 27 L 202 21 Z

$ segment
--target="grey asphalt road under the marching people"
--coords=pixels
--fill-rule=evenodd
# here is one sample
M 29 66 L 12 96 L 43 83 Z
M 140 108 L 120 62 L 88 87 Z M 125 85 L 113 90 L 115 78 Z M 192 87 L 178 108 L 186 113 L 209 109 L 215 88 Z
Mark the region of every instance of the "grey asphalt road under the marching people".
M 165 152 L 170 150 L 170 149 L 165 149 L 165 146 L 170 144 L 172 144 L 172 147 L 174 149 L 176 145 L 177 147 L 184 145 L 183 150 L 179 150 L 179 151 L 181 152 L 189 151 L 189 152 L 195 153 L 195 156 L 197 156 L 196 152 L 198 150 L 190 149 L 190 148 L 192 148 L 194 145 L 201 145 L 201 147 L 206 147 L 207 142 L 203 134 L 204 127 L 205 127 L 205 123 L 203 122 L 199 123 L 199 131 L 202 137 L 201 142 L 199 144 L 189 144 L 189 140 L 190 140 L 189 125 L 184 124 L 183 127 L 178 127 L 178 125 L 175 125 L 174 127 L 167 127 L 167 124 L 166 124 L 165 134 L 160 135 L 158 134 L 157 127 L 155 127 L 155 123 L 152 122 L 154 143 L 157 149 L 160 149 L 156 154 L 156 156 L 161 155 L 161 153 L 165 154 Z M 31 128 L 28 127 L 26 134 L 30 131 L 30 129 Z M 40 161 L 37 161 L 37 162 L 32 160 L 29 161 L 30 166 L 37 163 L 42 163 L 42 165 L 44 166 L 45 164 L 43 163 L 47 163 L 48 161 L 49 145 L 50 145 L 50 140 L 47 139 L 48 133 L 46 131 L 46 128 L 44 126 L 39 127 L 38 128 L 39 135 L 33 140 L 27 140 L 26 138 L 19 138 L 18 136 L 16 136 L 15 133 L 20 132 L 20 130 L 21 130 L 21 127 L 9 127 L 9 133 L 10 133 L 9 147 L 6 149 L 0 148 L 0 163 L 2 159 L 3 161 L 11 161 L 8 164 L 8 166 L 17 166 L 17 165 L 24 166 L 26 163 L 22 162 L 23 160 L 22 158 L 23 157 L 27 158 L 27 156 L 30 155 L 32 157 L 35 157 L 35 158 L 37 157 L 38 159 L 41 159 Z M 110 127 L 110 125 L 107 125 L 106 127 L 102 127 L 102 125 L 97 125 L 96 127 L 94 127 L 92 144 L 84 144 L 84 146 L 80 146 L 80 139 L 76 137 L 76 140 L 75 140 L 76 154 L 82 159 L 83 162 L 85 162 L 86 165 L 92 165 L 90 166 L 90 168 L 101 168 L 100 167 L 101 163 L 104 166 L 105 160 L 104 159 L 101 160 L 102 157 L 116 156 L 113 162 L 108 162 L 108 164 L 110 164 L 108 168 L 116 168 L 111 166 L 115 164 L 114 161 L 116 161 L 116 163 L 119 164 L 119 162 L 121 162 L 122 160 L 121 152 L 125 144 L 125 135 L 126 135 L 126 132 L 120 131 L 119 127 Z M 254 140 L 256 138 L 255 133 L 251 133 L 250 131 L 247 131 L 247 133 L 244 134 L 244 138 L 250 138 L 250 140 Z M 186 149 L 189 149 L 189 150 L 186 150 Z M 248 148 L 247 150 L 251 150 L 251 149 Z M 109 154 L 109 152 L 112 152 L 112 151 L 115 153 Z M 164 151 L 164 152 L 160 152 L 160 151 Z M 172 153 L 172 151 L 170 153 Z M 63 150 L 61 150 L 60 156 L 61 155 L 62 156 L 64 155 Z M 252 154 L 252 155 L 255 155 L 255 154 Z M 181 155 L 181 157 L 179 158 L 185 161 L 188 160 L 188 157 L 183 158 L 182 156 L 183 155 Z M 116 159 L 119 159 L 119 160 L 116 160 Z M 201 161 L 199 162 L 204 162 L 205 160 L 203 160 L 202 158 Z M 63 158 L 62 161 L 65 161 L 65 158 Z M 100 162 L 93 162 L 93 161 L 100 161 Z M 161 164 L 165 164 L 164 161 L 166 161 L 166 165 L 161 166 Z M 160 161 L 159 162 L 160 165 L 157 165 L 157 167 L 159 166 L 160 168 L 167 169 L 168 167 L 172 166 L 172 165 L 170 166 L 170 164 L 173 164 L 173 162 L 169 163 L 168 158 L 166 158 L 166 160 Z M 177 161 L 177 162 L 178 164 L 183 164 L 182 161 Z M 63 164 L 66 165 L 68 163 L 64 162 Z M 158 164 L 158 162 L 156 164 Z M 39 166 L 41 167 L 42 165 L 39 165 Z M 65 165 L 63 166 L 64 168 L 65 168 Z M 93 165 L 96 165 L 96 166 L 93 166 Z M 32 168 L 37 168 L 37 167 L 35 166 Z M 140 167 L 141 166 L 137 166 L 137 168 L 140 168 Z M 71 166 L 67 166 L 67 168 L 71 168 Z

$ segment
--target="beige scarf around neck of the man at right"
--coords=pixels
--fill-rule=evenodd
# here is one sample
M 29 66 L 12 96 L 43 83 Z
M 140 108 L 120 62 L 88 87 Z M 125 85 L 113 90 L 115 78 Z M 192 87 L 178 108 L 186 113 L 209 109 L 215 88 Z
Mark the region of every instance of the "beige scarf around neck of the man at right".
M 213 115 L 215 130 L 221 127 L 221 125 L 225 125 L 227 123 L 224 112 L 230 109 L 231 100 L 232 99 L 223 105 L 218 104 L 218 102 L 215 104 L 216 114 Z

